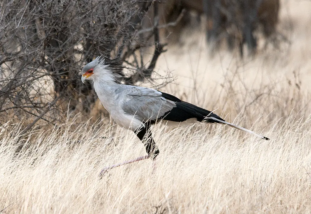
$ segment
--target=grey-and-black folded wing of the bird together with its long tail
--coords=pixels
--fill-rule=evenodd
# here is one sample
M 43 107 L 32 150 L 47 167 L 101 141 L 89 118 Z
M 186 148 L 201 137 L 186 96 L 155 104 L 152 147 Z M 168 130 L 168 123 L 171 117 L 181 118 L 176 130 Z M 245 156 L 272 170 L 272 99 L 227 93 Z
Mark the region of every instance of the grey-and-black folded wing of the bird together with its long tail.
M 226 122 L 218 115 L 206 109 L 197 107 L 191 103 L 183 102 L 173 95 L 159 92 L 150 88 L 128 86 L 125 91 L 123 111 L 135 115 L 141 121 L 154 121 L 164 119 L 175 122 L 182 122 L 190 118 L 207 123 L 220 123 L 233 128 L 245 131 L 262 139 L 269 138 L 259 135 L 243 127 Z

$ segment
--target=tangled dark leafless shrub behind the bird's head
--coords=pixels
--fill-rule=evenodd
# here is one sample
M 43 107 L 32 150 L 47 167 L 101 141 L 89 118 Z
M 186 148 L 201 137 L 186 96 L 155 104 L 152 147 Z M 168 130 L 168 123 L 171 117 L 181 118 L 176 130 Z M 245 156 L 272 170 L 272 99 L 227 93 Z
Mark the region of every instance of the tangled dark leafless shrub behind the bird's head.
M 150 79 L 163 52 L 158 41 L 155 0 L 9 1 L 0 11 L 1 123 L 18 119 L 28 128 L 37 121 L 55 124 L 70 112 L 90 112 L 97 97 L 80 81 L 81 67 L 98 55 L 118 57 L 130 69 L 123 82 Z M 141 22 L 154 7 L 154 26 L 137 39 Z M 144 47 L 153 54 L 143 60 Z M 165 83 L 165 80 L 164 80 Z

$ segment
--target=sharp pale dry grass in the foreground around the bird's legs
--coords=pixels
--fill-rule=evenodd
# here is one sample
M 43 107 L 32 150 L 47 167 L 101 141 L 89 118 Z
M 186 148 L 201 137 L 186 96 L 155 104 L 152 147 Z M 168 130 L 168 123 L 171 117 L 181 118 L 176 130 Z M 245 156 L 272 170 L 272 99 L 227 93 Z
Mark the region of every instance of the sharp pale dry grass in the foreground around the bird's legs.
M 311 209 L 310 119 L 275 122 L 263 141 L 216 126 L 156 127 L 157 168 L 149 160 L 100 169 L 145 153 L 135 135 L 63 125 L 33 132 L 20 155 L 18 130 L 1 129 L 0 203 L 7 213 L 251 213 Z M 261 132 L 262 122 L 252 129 Z M 74 130 L 74 131 L 73 131 Z M 104 138 L 103 138 L 104 137 Z

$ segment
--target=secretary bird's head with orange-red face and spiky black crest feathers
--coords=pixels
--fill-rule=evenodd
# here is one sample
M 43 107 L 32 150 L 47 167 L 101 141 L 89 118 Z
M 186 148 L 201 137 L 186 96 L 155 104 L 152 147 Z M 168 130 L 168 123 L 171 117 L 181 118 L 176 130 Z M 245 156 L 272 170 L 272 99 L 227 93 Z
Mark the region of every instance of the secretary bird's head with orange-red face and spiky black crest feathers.
M 122 61 L 119 59 L 107 59 L 99 56 L 92 62 L 86 64 L 82 69 L 81 81 L 84 83 L 86 79 L 97 81 L 113 81 L 116 82 L 123 76 Z

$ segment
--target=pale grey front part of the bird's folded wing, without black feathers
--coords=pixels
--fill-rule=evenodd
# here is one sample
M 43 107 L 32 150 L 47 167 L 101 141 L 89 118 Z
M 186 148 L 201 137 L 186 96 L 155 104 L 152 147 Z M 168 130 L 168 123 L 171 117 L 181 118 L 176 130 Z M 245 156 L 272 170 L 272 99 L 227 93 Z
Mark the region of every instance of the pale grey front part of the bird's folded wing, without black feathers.
M 154 121 L 176 107 L 175 102 L 162 97 L 162 93 L 151 88 L 128 86 L 122 109 L 143 122 Z

